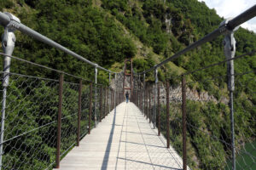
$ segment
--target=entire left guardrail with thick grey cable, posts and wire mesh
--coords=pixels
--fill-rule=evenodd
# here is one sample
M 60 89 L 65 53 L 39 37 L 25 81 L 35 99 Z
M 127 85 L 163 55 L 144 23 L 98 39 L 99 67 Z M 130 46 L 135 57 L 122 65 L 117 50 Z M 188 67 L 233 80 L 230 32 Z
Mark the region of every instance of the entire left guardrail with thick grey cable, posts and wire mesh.
M 102 105 L 108 104 L 109 112 L 111 109 L 115 108 L 115 105 L 117 105 L 119 102 L 119 99 L 116 96 L 118 93 L 116 90 L 113 91 L 113 89 L 110 87 L 103 88 L 101 84 L 97 83 L 97 70 L 100 69 L 108 72 L 109 83 L 111 82 L 112 74 L 114 77 L 116 77 L 117 75 L 122 74 L 122 71 L 119 73 L 109 71 L 108 69 L 103 68 L 102 66 L 97 65 L 88 59 L 84 59 L 84 57 L 81 55 L 63 47 L 57 42 L 54 42 L 53 40 L 49 39 L 49 37 L 45 37 L 37 31 L 23 25 L 13 14 L 0 12 L 0 24 L 4 26 L 2 42 L 3 53 L 0 53 L 0 55 L 2 55 L 4 58 L 3 71 L 1 72 L 3 76 L 3 98 L 0 138 L 0 169 L 42 169 L 46 168 L 45 166 L 52 167 L 53 164 L 56 164 L 56 167 L 58 167 L 61 156 L 64 156 L 76 142 L 79 144 L 79 139 L 82 138 L 85 133 L 87 133 L 87 125 L 85 124 L 89 123 L 88 132 L 90 133 L 90 127 L 92 124 L 94 124 L 96 127 L 97 121 L 102 120 L 102 112 L 104 111 L 105 115 L 107 111 L 107 106 L 103 107 Z M 44 65 L 38 65 L 36 63 L 26 61 L 25 59 L 19 59 L 12 56 L 15 49 L 16 30 L 33 37 L 40 42 L 44 42 L 53 48 L 58 48 L 61 51 L 72 55 L 74 58 L 80 59 L 86 64 L 95 67 L 94 87 L 92 87 L 93 82 L 88 81 L 84 77 L 77 77 L 64 71 L 57 71 Z M 60 79 L 57 80 L 50 79 L 49 77 L 37 77 L 13 73 L 10 71 L 11 59 L 24 62 L 29 66 L 33 65 L 47 71 L 53 71 L 60 75 Z M 70 80 L 78 80 L 78 82 L 65 82 L 63 79 L 64 75 L 65 77 L 72 77 Z M 115 81 L 116 78 L 113 82 L 115 83 Z M 86 85 L 84 85 L 83 82 L 86 82 Z M 90 83 L 90 85 L 88 83 Z M 94 94 L 92 94 L 92 90 L 94 90 Z M 9 94 L 7 93 L 8 91 Z M 59 93 L 57 93 L 58 91 Z M 103 92 L 104 94 L 102 94 Z M 13 96 L 13 93 L 16 93 L 17 96 Z M 46 93 L 45 96 L 44 93 Z M 92 99 L 93 95 L 94 99 Z M 14 99 L 9 99 L 10 96 Z M 57 96 L 59 97 L 58 102 L 56 100 Z M 27 102 L 31 102 L 33 105 L 26 103 L 26 99 L 30 98 L 31 100 Z M 104 99 L 104 102 L 102 101 L 102 98 Z M 39 100 L 37 101 L 33 99 Z M 106 99 L 112 100 L 111 102 L 107 102 Z M 87 103 L 84 103 L 84 100 L 86 100 Z M 90 105 L 88 104 L 89 100 Z M 94 103 L 94 106 L 92 106 L 92 102 Z M 57 103 L 59 103 L 58 106 Z M 72 103 L 73 105 L 68 103 Z M 78 103 L 79 106 L 77 106 L 75 103 Z M 28 105 L 30 105 L 31 108 L 28 108 Z M 47 108 L 47 105 L 49 105 L 50 108 Z M 88 113 L 86 116 L 84 116 L 83 111 L 89 110 L 89 107 L 90 116 L 88 116 Z M 61 111 L 61 109 L 63 111 Z M 15 112 L 18 115 L 13 115 L 9 111 Z M 59 113 L 58 119 L 55 117 L 57 116 L 55 111 L 58 111 Z M 22 113 L 24 114 L 22 115 Z M 42 117 L 34 115 L 35 113 L 38 113 Z M 28 116 L 28 118 L 32 116 L 33 120 L 23 120 L 26 119 L 26 116 Z M 28 124 L 25 129 L 20 126 L 21 122 Z M 63 125 L 63 122 L 70 127 L 66 127 L 65 124 Z M 78 124 L 76 125 L 76 123 Z M 7 124 L 7 126 L 5 126 L 5 124 Z M 41 132 L 42 129 L 44 129 L 44 132 Z M 69 131 L 71 131 L 71 134 Z M 77 137 L 75 137 L 74 131 L 77 131 Z M 32 134 L 34 136 L 29 136 Z M 57 139 L 55 139 L 55 136 L 57 136 Z M 38 143 L 36 142 L 37 138 L 40 140 Z M 24 142 L 22 139 L 26 142 Z M 33 146 L 29 145 L 30 143 L 33 143 L 32 140 L 34 140 L 34 143 L 37 144 Z M 57 142 L 56 148 L 55 142 Z M 28 148 L 30 149 L 27 150 Z M 56 156 L 52 154 L 53 152 L 56 152 Z M 31 157 L 27 156 L 29 154 L 31 154 Z

